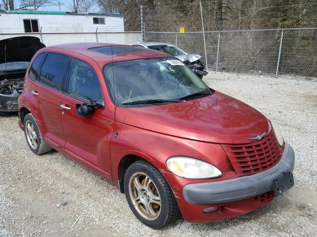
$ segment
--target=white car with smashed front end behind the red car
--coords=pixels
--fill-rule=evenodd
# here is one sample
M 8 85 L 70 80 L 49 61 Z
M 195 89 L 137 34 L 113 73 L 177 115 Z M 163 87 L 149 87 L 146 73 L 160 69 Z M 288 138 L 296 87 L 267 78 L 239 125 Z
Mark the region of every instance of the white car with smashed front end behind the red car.
M 198 54 L 188 54 L 180 48 L 174 46 L 173 44 L 163 42 L 143 42 L 132 43 L 130 45 L 150 48 L 173 55 L 174 57 L 185 63 L 194 73 L 197 74 L 200 79 L 208 74 L 208 72 L 205 71 L 205 65 L 200 60 L 202 56 Z

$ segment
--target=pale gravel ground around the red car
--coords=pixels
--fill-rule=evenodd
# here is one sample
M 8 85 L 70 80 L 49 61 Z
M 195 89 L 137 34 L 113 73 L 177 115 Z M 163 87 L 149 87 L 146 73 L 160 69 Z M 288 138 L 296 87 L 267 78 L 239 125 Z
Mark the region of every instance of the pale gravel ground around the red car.
M 180 219 L 152 230 L 134 217 L 116 186 L 60 153 L 34 155 L 16 115 L 0 116 L 0 237 L 317 236 L 317 79 L 211 72 L 205 81 L 280 128 L 296 154 L 292 190 L 237 218 L 210 224 Z

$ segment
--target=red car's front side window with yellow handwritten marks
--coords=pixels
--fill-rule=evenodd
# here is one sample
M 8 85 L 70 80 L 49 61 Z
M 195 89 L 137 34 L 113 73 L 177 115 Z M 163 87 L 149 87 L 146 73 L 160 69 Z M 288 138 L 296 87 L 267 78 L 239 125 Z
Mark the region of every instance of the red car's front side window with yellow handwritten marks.
M 103 99 L 96 72 L 78 59 L 74 59 L 71 66 L 67 93 L 88 101 Z

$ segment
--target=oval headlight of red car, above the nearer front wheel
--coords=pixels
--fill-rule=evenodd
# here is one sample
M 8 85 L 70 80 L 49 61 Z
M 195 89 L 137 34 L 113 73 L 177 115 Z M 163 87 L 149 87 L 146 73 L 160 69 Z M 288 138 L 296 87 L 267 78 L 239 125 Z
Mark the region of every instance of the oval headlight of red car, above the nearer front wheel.
M 189 157 L 168 158 L 166 166 L 172 173 L 189 179 L 217 178 L 222 175 L 212 164 Z

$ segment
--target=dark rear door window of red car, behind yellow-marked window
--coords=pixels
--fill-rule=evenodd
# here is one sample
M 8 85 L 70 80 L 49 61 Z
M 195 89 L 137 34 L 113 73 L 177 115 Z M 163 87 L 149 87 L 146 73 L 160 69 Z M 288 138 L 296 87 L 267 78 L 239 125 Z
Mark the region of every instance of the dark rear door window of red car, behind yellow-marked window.
M 40 82 L 54 89 L 61 90 L 68 60 L 69 56 L 49 53 L 42 66 Z

